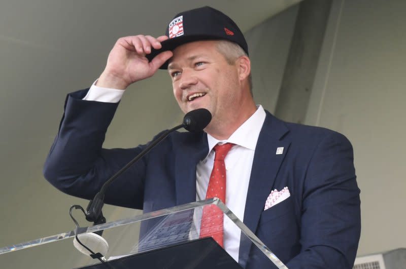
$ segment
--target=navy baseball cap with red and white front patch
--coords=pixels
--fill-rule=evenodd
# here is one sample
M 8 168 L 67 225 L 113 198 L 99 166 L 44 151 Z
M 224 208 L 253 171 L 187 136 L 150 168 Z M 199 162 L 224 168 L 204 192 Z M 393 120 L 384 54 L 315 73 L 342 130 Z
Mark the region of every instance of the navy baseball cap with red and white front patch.
M 151 61 L 163 51 L 172 51 L 188 42 L 202 40 L 228 40 L 238 44 L 248 55 L 248 45 L 240 28 L 224 13 L 211 7 L 192 9 L 177 14 L 165 32 L 168 40 L 161 42 L 162 48 L 152 49 L 146 57 Z M 167 69 L 165 62 L 159 69 Z

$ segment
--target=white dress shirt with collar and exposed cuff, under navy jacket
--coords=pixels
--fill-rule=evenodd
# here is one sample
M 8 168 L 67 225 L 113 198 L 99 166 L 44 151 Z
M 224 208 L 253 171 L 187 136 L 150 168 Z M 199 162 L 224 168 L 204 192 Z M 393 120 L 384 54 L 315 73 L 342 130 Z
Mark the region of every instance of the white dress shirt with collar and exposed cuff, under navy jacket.
M 90 87 L 83 100 L 115 103 L 120 101 L 124 90 L 95 86 Z M 250 182 L 252 162 L 259 132 L 265 121 L 265 111 L 261 105 L 254 114 L 244 122 L 227 140 L 217 140 L 207 135 L 209 143 L 208 156 L 196 166 L 196 201 L 206 199 L 206 191 L 214 163 L 213 147 L 220 143 L 235 144 L 224 160 L 226 166 L 226 206 L 240 219 L 244 220 L 245 202 Z M 239 258 L 240 229 L 227 217 L 224 218 L 224 249 L 236 261 Z

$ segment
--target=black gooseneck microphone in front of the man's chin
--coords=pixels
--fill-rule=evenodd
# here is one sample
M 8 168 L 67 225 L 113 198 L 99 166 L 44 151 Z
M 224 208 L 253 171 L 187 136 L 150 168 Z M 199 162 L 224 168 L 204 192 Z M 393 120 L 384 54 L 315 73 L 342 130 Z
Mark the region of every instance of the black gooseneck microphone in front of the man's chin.
M 139 155 L 132 159 L 128 164 L 126 164 L 103 184 L 100 191 L 94 196 L 93 200 L 90 201 L 89 205 L 86 208 L 86 220 L 91 222 L 98 222 L 98 224 L 106 222 L 106 219 L 101 213 L 101 208 L 103 208 L 104 205 L 104 198 L 108 186 L 124 171 L 130 168 L 135 162 L 144 157 L 153 147 L 155 147 L 160 141 L 168 136 L 168 134 L 180 128 L 185 128 L 189 132 L 197 133 L 205 129 L 211 120 L 212 114 L 206 108 L 198 108 L 186 113 L 181 125 L 163 132 L 157 139 L 152 141 L 143 151 L 141 151 Z M 104 222 L 100 222 L 100 219 L 104 219 Z

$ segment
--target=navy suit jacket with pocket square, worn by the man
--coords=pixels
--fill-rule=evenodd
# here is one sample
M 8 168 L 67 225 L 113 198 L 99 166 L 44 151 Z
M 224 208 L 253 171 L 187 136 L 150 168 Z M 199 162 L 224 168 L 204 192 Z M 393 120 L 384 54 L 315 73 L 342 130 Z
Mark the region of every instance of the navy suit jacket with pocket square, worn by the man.
M 145 145 L 104 149 L 117 103 L 67 96 L 44 175 L 67 194 L 92 199 Z M 283 153 L 276 154 L 278 147 Z M 204 132 L 175 132 L 109 188 L 106 203 L 150 212 L 196 200 L 196 164 L 208 153 Z M 264 211 L 272 189 L 290 197 Z M 255 149 L 244 223 L 288 268 L 352 268 L 360 236 L 360 200 L 347 138 L 324 128 L 278 120 L 266 112 Z M 251 244 L 240 244 L 246 268 L 274 268 Z M 276 267 L 275 267 L 276 268 Z

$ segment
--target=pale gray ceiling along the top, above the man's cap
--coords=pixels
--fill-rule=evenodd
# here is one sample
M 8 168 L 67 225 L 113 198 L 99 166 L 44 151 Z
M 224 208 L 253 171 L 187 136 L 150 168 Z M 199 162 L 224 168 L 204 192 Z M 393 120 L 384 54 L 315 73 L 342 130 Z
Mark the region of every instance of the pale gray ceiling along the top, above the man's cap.
M 160 35 L 175 14 L 212 6 L 238 22 L 241 30 L 279 13 L 298 0 L 225 1 L 2 1 L 3 41 L 55 51 L 105 52 L 112 37 L 134 33 Z

